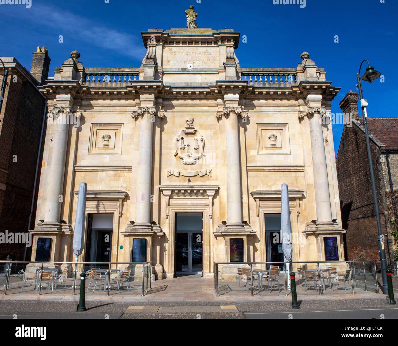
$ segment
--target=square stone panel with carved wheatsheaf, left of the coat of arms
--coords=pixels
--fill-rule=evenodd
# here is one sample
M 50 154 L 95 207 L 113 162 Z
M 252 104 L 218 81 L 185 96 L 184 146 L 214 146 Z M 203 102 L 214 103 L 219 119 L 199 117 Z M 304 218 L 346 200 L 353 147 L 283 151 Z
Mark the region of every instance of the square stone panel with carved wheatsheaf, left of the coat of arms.
M 122 138 L 123 124 L 91 124 L 88 154 L 121 155 Z

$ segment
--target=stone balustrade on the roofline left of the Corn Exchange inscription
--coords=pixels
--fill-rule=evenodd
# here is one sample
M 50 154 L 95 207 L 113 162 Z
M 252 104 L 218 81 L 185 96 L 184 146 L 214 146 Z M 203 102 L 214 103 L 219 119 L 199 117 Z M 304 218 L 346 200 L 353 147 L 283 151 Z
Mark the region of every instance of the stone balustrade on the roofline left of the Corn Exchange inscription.
M 113 85 L 124 86 L 131 81 L 139 79 L 139 69 L 95 69 L 84 70 L 84 85 Z

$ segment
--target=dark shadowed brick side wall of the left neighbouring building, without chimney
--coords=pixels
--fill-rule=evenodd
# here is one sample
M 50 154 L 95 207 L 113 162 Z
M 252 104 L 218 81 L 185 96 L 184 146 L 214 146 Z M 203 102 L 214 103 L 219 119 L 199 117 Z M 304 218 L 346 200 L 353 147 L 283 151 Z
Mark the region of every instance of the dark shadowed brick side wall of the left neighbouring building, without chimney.
M 3 121 L 0 123 L 0 183 L 6 188 L 0 191 L 0 232 L 26 232 L 28 229 L 45 106 L 45 99 L 37 88 L 21 75 L 17 75 L 14 83 L 14 75 L 16 71 L 10 71 L 0 115 Z M 16 162 L 13 162 L 14 155 Z M 30 229 L 34 216 L 35 209 Z M 14 260 L 22 260 L 24 250 L 24 244 L 1 244 L 0 259 L 10 255 Z M 30 258 L 30 251 L 31 248 L 27 248 L 27 258 Z

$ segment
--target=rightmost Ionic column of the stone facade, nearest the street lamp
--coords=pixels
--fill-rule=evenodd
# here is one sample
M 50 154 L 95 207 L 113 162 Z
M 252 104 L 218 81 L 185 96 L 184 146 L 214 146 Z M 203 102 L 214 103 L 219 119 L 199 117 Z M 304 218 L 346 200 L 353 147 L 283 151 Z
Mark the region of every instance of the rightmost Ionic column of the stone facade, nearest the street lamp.
M 299 113 L 300 118 L 303 118 L 305 115 L 308 116 L 310 121 L 316 224 L 333 224 L 332 209 L 330 205 L 328 167 L 326 165 L 324 134 L 322 130 L 322 118 L 326 116 L 326 109 L 324 107 L 309 106 L 306 113 Z

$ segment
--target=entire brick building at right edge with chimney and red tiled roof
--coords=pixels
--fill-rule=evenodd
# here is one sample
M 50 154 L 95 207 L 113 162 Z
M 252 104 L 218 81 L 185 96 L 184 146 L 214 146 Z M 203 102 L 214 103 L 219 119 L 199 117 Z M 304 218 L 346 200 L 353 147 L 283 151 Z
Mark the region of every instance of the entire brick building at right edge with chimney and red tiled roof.
M 353 116 L 352 126 L 344 127 L 336 159 L 342 222 L 347 229 L 346 255 L 348 260 L 375 260 L 380 269 L 375 205 L 358 100 L 358 94 L 350 91 L 340 103 L 341 110 Z M 398 239 L 394 238 L 390 220 L 396 220 L 398 210 L 398 118 L 368 117 L 367 122 L 387 265 L 396 271 Z

